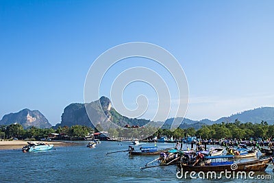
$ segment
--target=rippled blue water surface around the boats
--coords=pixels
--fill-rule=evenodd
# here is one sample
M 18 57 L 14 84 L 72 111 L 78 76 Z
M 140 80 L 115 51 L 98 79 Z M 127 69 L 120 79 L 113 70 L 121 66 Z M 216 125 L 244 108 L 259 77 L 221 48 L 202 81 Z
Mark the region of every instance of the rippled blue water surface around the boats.
M 21 149 L 0 151 L 0 182 L 273 182 L 273 165 L 259 174 L 272 180 L 192 180 L 176 178 L 176 167 L 140 167 L 158 156 L 127 156 L 127 152 L 105 155 L 128 148 L 128 142 L 102 142 L 96 148 L 77 146 L 54 147 L 51 151 L 22 153 Z M 153 146 L 146 143 L 143 146 Z M 158 143 L 159 148 L 173 147 Z M 185 145 L 184 145 L 185 146 Z M 138 149 L 138 147 L 136 147 Z M 185 148 L 186 149 L 186 148 Z M 256 173 L 257 175 L 258 173 Z M 254 177 L 256 176 L 254 175 Z

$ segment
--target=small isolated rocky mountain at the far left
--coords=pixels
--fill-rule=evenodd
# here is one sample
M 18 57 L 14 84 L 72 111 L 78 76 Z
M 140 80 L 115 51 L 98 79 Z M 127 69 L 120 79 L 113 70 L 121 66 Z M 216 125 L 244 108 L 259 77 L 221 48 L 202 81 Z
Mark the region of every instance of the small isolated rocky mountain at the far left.
M 38 128 L 49 128 L 51 124 L 46 117 L 38 110 L 29 110 L 27 108 L 10 114 L 5 114 L 3 119 L 0 121 L 0 125 L 11 125 L 21 124 L 23 127 L 38 127 Z

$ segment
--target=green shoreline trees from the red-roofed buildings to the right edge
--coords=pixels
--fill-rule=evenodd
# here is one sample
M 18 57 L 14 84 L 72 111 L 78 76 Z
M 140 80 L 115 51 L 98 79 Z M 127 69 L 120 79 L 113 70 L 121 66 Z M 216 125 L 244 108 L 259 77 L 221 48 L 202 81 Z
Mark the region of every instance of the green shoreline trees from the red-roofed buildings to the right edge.
M 266 121 L 261 121 L 260 123 L 241 123 L 236 119 L 233 123 L 215 123 L 213 125 L 203 125 L 198 130 L 194 127 L 189 127 L 186 129 L 177 128 L 174 131 L 168 129 L 153 129 L 153 127 L 145 127 L 141 129 L 141 132 L 155 132 L 149 135 L 149 138 L 157 136 L 182 138 L 186 136 L 197 136 L 202 139 L 221 139 L 221 138 L 237 138 L 237 139 L 249 139 L 253 138 L 274 138 L 274 125 L 269 125 Z M 147 131 L 146 131 L 147 130 Z M 109 129 L 112 138 L 119 136 L 127 136 L 131 138 L 138 138 L 140 134 L 139 129 L 128 130 L 130 134 L 127 134 L 127 129 L 116 128 Z M 147 134 L 146 134 L 147 135 Z

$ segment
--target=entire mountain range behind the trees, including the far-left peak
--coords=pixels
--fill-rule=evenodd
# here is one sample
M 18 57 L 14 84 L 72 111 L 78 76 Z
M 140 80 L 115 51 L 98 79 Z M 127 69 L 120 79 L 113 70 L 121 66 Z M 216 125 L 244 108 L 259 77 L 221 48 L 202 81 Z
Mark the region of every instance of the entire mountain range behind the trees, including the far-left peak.
M 92 110 L 92 114 L 95 114 L 95 118 L 92 117 L 93 123 L 91 123 L 87 110 Z M 102 109 L 102 110 L 101 110 Z M 162 125 L 163 129 L 170 129 L 171 124 L 173 123 L 173 119 L 166 119 L 165 122 L 152 122 L 151 124 L 159 126 L 159 124 L 164 123 Z M 243 112 L 238 112 L 236 114 L 232 114 L 229 117 L 221 117 L 216 121 L 212 121 L 210 119 L 202 119 L 200 121 L 195 121 L 191 119 L 184 119 L 182 117 L 177 118 L 176 120 L 182 121 L 180 128 L 188 128 L 194 127 L 196 130 L 201 128 L 202 125 L 212 125 L 214 123 L 222 123 L 222 122 L 234 122 L 236 119 L 241 121 L 242 123 L 251 122 L 251 123 L 260 123 L 261 121 L 267 121 L 269 124 L 274 124 L 274 108 L 273 107 L 262 107 L 255 108 L 253 110 L 246 110 Z M 112 104 L 110 99 L 107 97 L 101 97 L 97 101 L 92 101 L 90 103 L 71 103 L 69 106 L 64 108 L 64 112 L 62 113 L 62 121 L 55 125 L 55 128 L 58 126 L 67 125 L 69 127 L 73 125 L 86 125 L 88 127 L 95 127 L 96 125 L 101 125 L 102 121 L 110 120 L 114 124 L 124 127 L 125 125 L 133 126 L 143 126 L 147 123 L 150 123 L 150 120 L 147 119 L 130 119 L 128 117 L 124 117 L 119 114 L 114 108 L 112 108 Z M 38 110 L 29 110 L 23 109 L 16 113 L 5 114 L 3 119 L 0 121 L 0 125 L 10 125 L 13 123 L 18 123 L 23 125 L 24 128 L 29 127 L 38 127 L 38 128 L 49 128 L 51 124 L 46 119 L 46 117 L 39 112 Z M 106 127 L 108 128 L 108 127 Z

